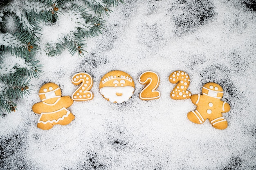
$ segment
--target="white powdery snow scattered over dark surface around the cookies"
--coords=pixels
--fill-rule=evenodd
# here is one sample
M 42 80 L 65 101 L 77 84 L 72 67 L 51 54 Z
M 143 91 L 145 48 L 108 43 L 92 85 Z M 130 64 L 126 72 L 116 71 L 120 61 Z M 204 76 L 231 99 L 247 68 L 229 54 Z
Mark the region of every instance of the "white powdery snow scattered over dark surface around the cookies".
M 85 57 L 67 51 L 48 57 L 42 50 L 40 79 L 18 101 L 18 111 L 0 117 L 0 159 L 4 170 L 255 170 L 256 169 L 256 12 L 239 0 L 126 0 L 112 8 L 106 30 L 88 40 Z M 76 16 L 74 16 L 76 17 Z M 43 26 L 42 44 L 74 29 L 72 15 Z M 135 93 L 122 104 L 108 102 L 99 82 L 112 70 L 130 74 Z M 190 99 L 173 100 L 175 70 L 190 75 L 188 88 L 201 93 L 207 82 L 224 89 L 223 113 L 229 126 L 218 130 L 207 120 L 194 124 Z M 160 77 L 161 97 L 143 101 L 138 81 L 144 71 Z M 75 73 L 94 79 L 94 99 L 68 108 L 75 119 L 50 130 L 36 127 L 40 87 L 54 82 L 63 96 L 79 87 Z

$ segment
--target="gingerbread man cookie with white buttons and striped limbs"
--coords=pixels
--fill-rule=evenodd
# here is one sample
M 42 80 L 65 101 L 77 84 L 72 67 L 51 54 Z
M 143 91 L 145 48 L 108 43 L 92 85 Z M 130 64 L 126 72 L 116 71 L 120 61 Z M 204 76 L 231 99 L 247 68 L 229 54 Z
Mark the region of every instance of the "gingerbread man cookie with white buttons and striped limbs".
M 192 95 L 191 101 L 197 108 L 188 113 L 190 121 L 196 124 L 202 124 L 206 119 L 209 119 L 211 125 L 217 129 L 227 128 L 227 120 L 222 116 L 222 113 L 230 110 L 229 104 L 221 101 L 223 89 L 216 83 L 204 84 L 202 95 Z

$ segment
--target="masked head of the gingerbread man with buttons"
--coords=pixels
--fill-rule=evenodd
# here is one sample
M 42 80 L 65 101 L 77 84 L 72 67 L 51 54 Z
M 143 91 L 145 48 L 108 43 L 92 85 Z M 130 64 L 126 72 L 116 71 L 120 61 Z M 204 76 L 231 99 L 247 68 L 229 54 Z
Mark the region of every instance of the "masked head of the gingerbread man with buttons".
M 202 93 L 203 95 L 221 99 L 223 96 L 223 89 L 220 85 L 211 82 L 204 84 Z

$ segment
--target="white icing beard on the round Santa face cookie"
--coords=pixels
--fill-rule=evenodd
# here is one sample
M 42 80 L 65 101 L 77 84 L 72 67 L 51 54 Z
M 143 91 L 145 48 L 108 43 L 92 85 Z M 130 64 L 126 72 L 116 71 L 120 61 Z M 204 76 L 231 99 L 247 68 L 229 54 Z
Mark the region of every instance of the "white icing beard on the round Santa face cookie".
M 122 103 L 126 102 L 133 94 L 134 87 L 124 86 L 124 87 L 102 87 L 100 89 L 101 95 L 106 99 L 109 99 L 110 102 Z M 117 93 L 119 95 L 117 95 Z M 121 95 L 120 95 L 121 94 Z

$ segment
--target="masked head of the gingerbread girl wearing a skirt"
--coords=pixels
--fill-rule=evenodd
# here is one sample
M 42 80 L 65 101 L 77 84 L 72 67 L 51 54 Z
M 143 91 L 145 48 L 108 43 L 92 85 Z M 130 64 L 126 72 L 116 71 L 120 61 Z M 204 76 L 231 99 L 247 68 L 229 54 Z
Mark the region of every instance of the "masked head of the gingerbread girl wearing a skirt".
M 39 90 L 39 97 L 43 102 L 50 102 L 61 97 L 61 89 L 55 83 L 44 84 Z M 51 102 L 50 102 L 51 103 Z

